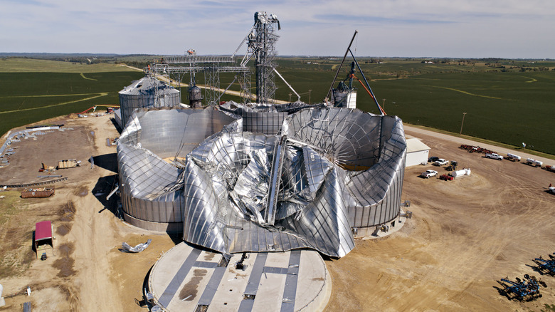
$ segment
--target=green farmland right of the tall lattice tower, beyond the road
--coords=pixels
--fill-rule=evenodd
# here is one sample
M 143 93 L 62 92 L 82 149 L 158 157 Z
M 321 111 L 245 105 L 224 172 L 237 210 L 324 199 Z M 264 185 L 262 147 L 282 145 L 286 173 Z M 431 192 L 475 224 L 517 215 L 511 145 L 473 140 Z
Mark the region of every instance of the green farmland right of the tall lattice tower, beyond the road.
M 359 61 L 360 62 L 360 61 Z M 555 66 L 554 62 L 542 66 Z M 313 66 L 312 70 L 307 70 Z M 294 86 L 302 100 L 321 101 L 334 77 L 332 66 L 297 65 L 293 61 L 278 68 Z M 300 68 L 305 68 L 301 71 Z M 347 68 L 339 75 L 345 78 Z M 551 112 L 555 108 L 555 71 L 495 71 L 489 66 L 424 64 L 392 61 L 361 64 L 380 105 L 388 115 L 398 115 L 406 123 L 481 137 L 555 155 L 555 127 Z M 412 72 L 412 74 L 411 74 Z M 401 73 L 403 78 L 397 78 Z M 355 76 L 362 78 L 360 73 Z M 276 78 L 277 79 L 277 78 Z M 280 81 L 277 98 L 287 100 L 290 90 Z M 358 82 L 357 108 L 379 113 L 374 100 Z M 295 95 L 292 95 L 295 100 Z

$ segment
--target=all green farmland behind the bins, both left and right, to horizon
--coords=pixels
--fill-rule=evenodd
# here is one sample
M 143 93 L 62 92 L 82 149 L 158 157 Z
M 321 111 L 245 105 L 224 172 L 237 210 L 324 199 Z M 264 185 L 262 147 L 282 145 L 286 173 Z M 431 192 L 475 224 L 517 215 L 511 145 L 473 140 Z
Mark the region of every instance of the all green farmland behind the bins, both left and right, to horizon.
M 321 102 L 329 90 L 340 58 L 279 58 L 278 71 L 300 93 L 305 102 Z M 359 63 L 370 80 L 386 113 L 406 123 L 425 125 L 487 140 L 527 147 L 555 155 L 551 111 L 555 107 L 555 62 L 525 60 L 434 60 L 361 58 Z M 374 62 L 374 63 L 371 63 Z M 79 63 L 8 58 L 0 71 L 0 134 L 16 126 L 46 118 L 78 113 L 93 105 L 117 105 L 125 85 L 142 73 L 110 63 Z M 350 63 L 339 74 L 343 79 Z M 356 71 L 355 75 L 362 78 Z M 231 81 L 222 74 L 221 88 Z M 289 88 L 276 77 L 275 98 L 289 100 Z M 252 78 L 254 81 L 254 78 Z M 189 78 L 183 78 L 184 83 Z M 197 83 L 203 79 L 197 77 Z M 378 113 L 364 88 L 358 89 L 357 107 Z M 252 85 L 254 92 L 255 85 Z M 235 83 L 231 90 L 238 90 Z M 310 96 L 310 98 L 309 98 Z M 184 101 L 186 97 L 183 97 Z M 223 95 L 221 100 L 239 99 Z M 296 100 L 294 94 L 291 100 Z

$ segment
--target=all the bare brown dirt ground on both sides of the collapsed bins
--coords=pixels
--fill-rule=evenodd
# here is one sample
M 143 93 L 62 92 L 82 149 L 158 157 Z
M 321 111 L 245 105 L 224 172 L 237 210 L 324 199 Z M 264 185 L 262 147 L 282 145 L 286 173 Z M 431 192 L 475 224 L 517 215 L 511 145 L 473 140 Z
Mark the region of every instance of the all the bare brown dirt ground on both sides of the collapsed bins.
M 15 191 L 0 192 L 11 194 L 0 199 L 0 216 L 8 215 L 0 223 L 0 284 L 4 296 L 26 286 L 33 291 L 6 298 L 0 311 L 21 311 L 26 301 L 33 311 L 147 311 L 144 279 L 179 238 L 121 222 L 115 200 L 105 200 L 116 170 L 115 147 L 106 146 L 107 137 L 118 135 L 110 117 L 65 120 L 73 130 L 17 143 L 11 165 L 0 169 L 0 184 L 23 183 L 40 180 L 41 162 L 83 163 L 58 170 L 69 179 L 55 184 L 51 198 L 17 197 L 14 208 L 7 199 Z M 432 166 L 407 168 L 403 200 L 411 201 L 413 218 L 386 238 L 359 240 L 347 256 L 326 261 L 333 283 L 326 311 L 541 311 L 555 303 L 555 278 L 531 267 L 532 259 L 555 251 L 555 195 L 545 192 L 555 173 L 469 154 L 439 135 L 406 132 L 472 175 L 425 180 L 418 174 Z M 56 249 L 41 261 L 31 239 L 34 223 L 45 219 L 53 222 Z M 133 246 L 147 239 L 152 244 L 140 254 L 120 251 L 122 241 Z M 499 294 L 496 280 L 524 274 L 546 282 L 542 298 L 519 302 Z

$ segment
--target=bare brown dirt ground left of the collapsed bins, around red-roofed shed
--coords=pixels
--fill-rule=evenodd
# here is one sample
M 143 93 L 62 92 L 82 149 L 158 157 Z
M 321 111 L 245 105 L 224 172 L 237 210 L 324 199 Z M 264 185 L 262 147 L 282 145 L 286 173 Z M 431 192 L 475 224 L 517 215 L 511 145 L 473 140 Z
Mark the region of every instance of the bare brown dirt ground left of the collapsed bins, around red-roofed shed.
M 107 137 L 119 135 L 110 117 L 60 120 L 73 130 L 54 131 L 12 145 L 16 154 L 8 167 L 0 169 L 0 184 L 43 180 L 36 177 L 46 175 L 38 172 L 41 162 L 54 166 L 58 160 L 75 158 L 82 165 L 53 172 L 68 177 L 52 184 L 56 194 L 46 199 L 18 199 L 19 211 L 1 224 L 0 251 L 6 251 L 0 253 L 3 296 L 26 286 L 31 286 L 32 293 L 6 298 L 0 311 L 21 311 L 26 301 L 31 301 L 33 311 L 147 311 L 139 306 L 143 281 L 160 254 L 174 246 L 175 238 L 120 222 L 113 198 L 105 200 L 117 170 L 115 147 L 106 145 Z M 8 193 L 0 192 L 0 196 Z M 2 200 L 0 214 L 6 209 Z M 43 220 L 53 222 L 56 235 L 54 255 L 48 253 L 46 261 L 36 259 L 31 250 L 34 224 Z M 123 241 L 134 246 L 147 239 L 152 239 L 152 244 L 141 254 L 120 251 Z

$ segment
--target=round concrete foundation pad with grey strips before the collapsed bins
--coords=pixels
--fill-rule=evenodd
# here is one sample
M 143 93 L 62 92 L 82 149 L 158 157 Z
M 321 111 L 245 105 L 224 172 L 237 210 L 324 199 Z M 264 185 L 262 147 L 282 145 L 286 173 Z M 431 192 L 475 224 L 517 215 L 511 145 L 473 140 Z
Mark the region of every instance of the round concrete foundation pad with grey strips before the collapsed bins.
M 183 242 L 149 275 L 152 303 L 164 311 L 322 311 L 331 290 L 311 250 L 233 254 L 226 265 L 221 254 Z

